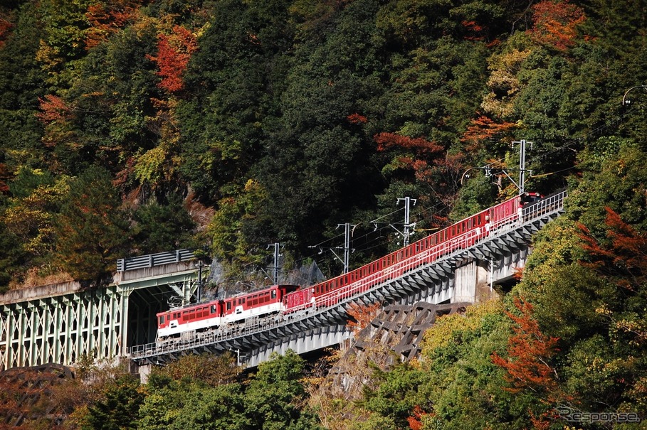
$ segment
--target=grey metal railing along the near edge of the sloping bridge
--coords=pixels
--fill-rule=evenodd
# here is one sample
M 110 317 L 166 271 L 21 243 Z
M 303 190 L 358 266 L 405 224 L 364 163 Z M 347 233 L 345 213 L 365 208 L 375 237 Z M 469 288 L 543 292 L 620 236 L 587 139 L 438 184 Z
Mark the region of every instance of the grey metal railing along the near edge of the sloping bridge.
M 325 313 L 330 311 L 332 308 L 342 306 L 344 303 L 353 301 L 359 296 L 378 289 L 382 284 L 399 278 L 400 276 L 404 276 L 419 267 L 443 262 L 456 254 L 460 254 L 465 251 L 465 249 L 474 247 L 488 240 L 493 240 L 496 237 L 505 235 L 506 233 L 516 230 L 518 227 L 529 222 L 539 220 L 540 218 L 551 215 L 552 213 L 557 213 L 564 208 L 564 198 L 566 196 L 567 192 L 565 190 L 555 193 L 554 195 L 549 195 L 537 203 L 527 205 L 522 209 L 521 213 L 513 213 L 503 218 L 495 225 L 492 225 L 489 231 L 485 229 L 475 229 L 465 232 L 461 236 L 457 236 L 452 240 L 437 244 L 419 254 L 414 254 L 396 264 L 386 267 L 386 269 L 383 269 L 382 271 L 371 274 L 347 286 L 343 286 L 341 289 L 323 294 L 315 299 L 315 305 L 313 307 L 304 308 L 301 311 L 290 313 L 286 315 L 286 318 L 281 318 L 280 315 L 255 318 L 253 321 L 233 324 L 231 326 L 219 328 L 218 330 L 211 330 L 204 333 L 192 333 L 184 338 L 167 340 L 160 343 L 135 345 L 128 348 L 128 353 L 130 354 L 130 358 L 133 360 L 150 358 L 156 355 L 177 353 L 190 348 L 214 345 L 227 340 L 240 338 L 245 335 L 253 335 L 267 330 L 273 330 L 274 328 L 287 326 L 288 324 L 295 323 L 303 319 L 312 318 L 312 316 Z M 308 313 L 306 311 L 310 312 Z

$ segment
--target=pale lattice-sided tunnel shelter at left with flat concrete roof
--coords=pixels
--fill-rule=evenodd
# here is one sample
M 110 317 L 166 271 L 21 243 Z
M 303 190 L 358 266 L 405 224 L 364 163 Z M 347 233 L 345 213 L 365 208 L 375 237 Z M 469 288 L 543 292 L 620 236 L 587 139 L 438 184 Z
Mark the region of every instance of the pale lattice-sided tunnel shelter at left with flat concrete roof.
M 117 272 L 107 286 L 68 282 L 0 296 L 0 370 L 46 363 L 73 365 L 126 355 L 154 340 L 170 296 L 191 296 L 197 269 L 189 262 Z

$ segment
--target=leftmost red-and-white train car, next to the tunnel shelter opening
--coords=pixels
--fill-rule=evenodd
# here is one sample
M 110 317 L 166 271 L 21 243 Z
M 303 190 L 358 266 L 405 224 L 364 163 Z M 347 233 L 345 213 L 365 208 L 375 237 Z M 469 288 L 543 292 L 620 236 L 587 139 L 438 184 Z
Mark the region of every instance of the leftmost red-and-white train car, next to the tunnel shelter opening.
M 214 300 L 157 314 L 157 338 L 172 338 L 186 332 L 207 330 L 222 323 L 222 303 Z

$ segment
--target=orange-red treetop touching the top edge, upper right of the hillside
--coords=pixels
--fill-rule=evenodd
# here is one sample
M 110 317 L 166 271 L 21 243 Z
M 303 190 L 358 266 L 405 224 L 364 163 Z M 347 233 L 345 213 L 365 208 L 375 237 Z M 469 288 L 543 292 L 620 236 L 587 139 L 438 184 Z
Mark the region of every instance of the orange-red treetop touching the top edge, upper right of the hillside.
M 544 45 L 566 50 L 574 45 L 575 28 L 584 22 L 584 11 L 567 0 L 544 0 L 532 6 L 535 26 L 530 35 Z

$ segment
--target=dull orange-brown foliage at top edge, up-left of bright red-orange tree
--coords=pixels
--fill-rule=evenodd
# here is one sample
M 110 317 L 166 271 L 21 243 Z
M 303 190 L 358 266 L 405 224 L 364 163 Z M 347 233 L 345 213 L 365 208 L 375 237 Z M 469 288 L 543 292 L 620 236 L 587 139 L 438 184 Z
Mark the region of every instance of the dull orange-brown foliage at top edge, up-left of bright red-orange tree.
M 85 33 L 85 49 L 90 49 L 116 33 L 137 14 L 140 1 L 117 0 L 110 4 L 93 4 L 88 7 L 85 17 L 90 21 L 90 28 Z

